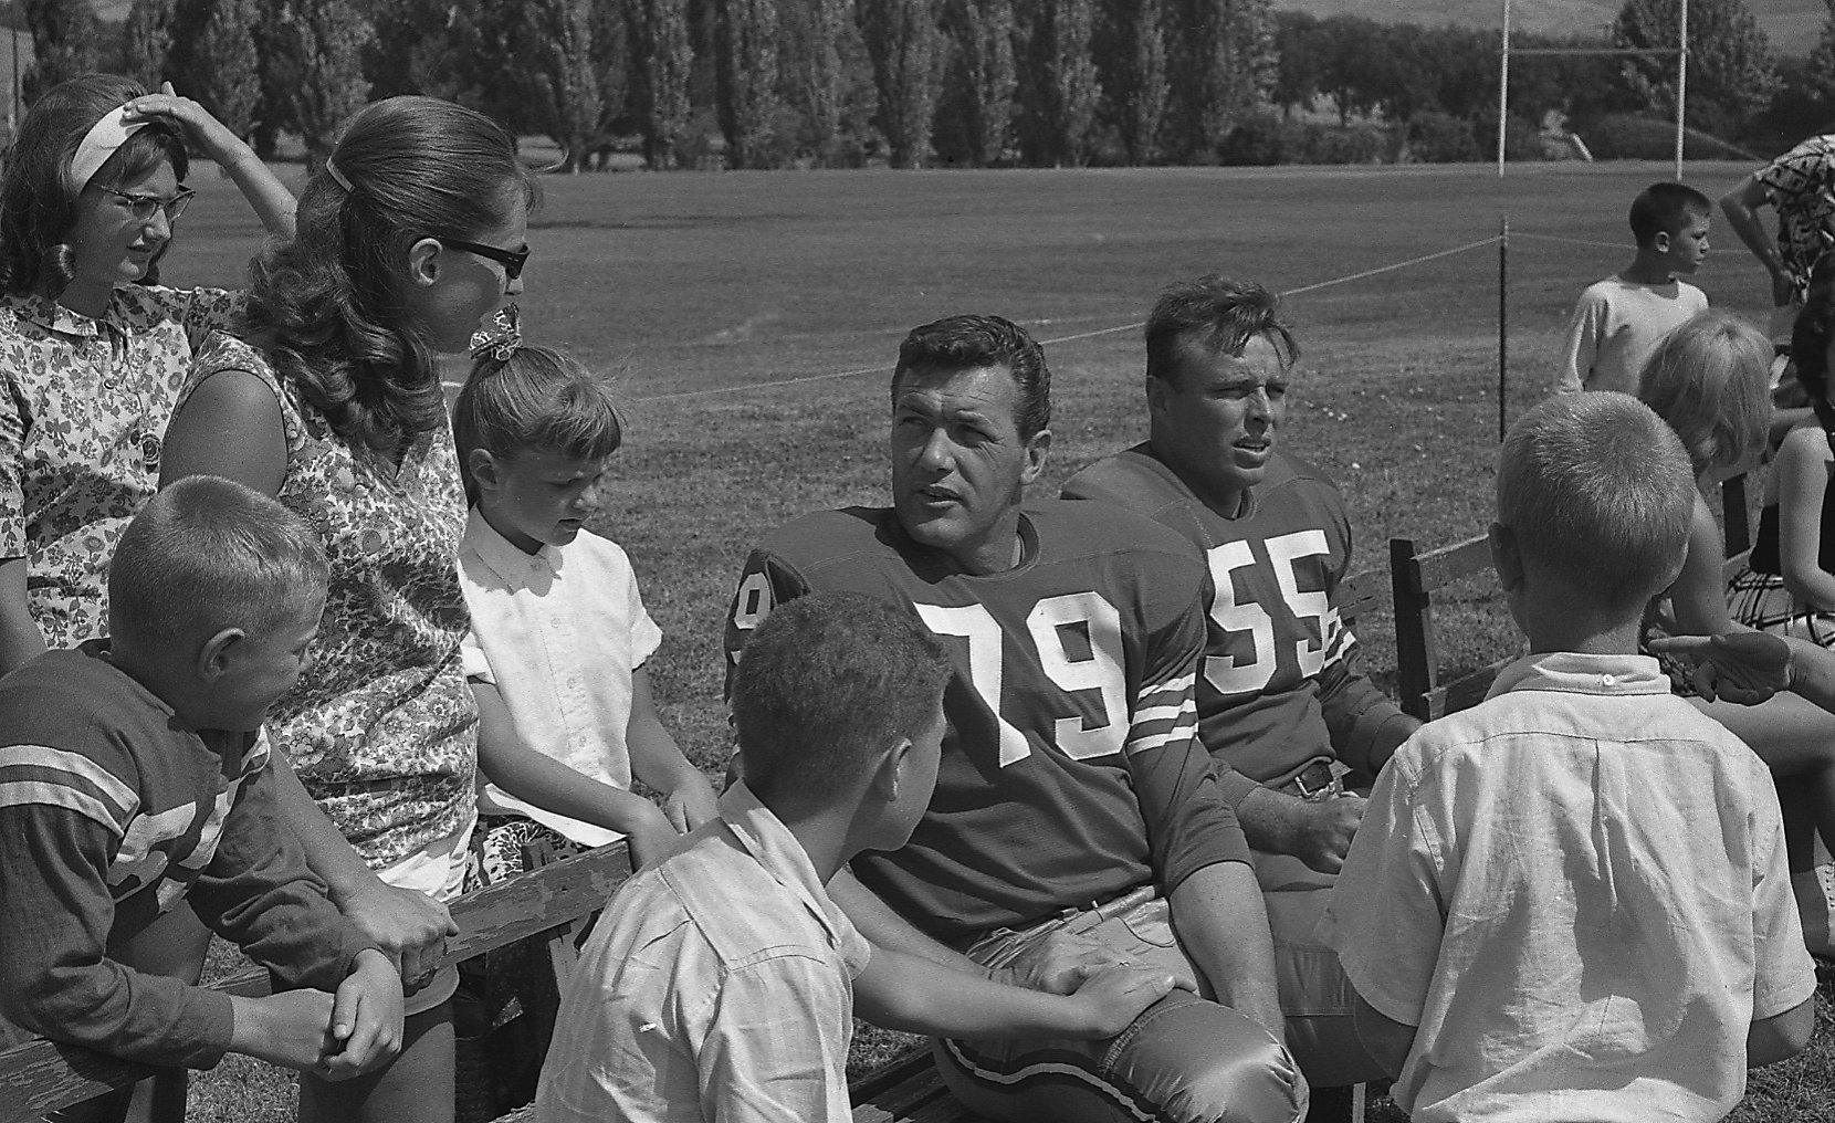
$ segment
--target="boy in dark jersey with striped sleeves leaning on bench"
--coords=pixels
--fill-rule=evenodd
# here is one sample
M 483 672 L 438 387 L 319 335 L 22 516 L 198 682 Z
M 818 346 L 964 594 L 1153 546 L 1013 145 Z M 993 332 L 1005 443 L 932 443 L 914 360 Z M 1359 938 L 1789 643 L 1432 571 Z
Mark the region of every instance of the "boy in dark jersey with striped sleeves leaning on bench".
M 294 514 L 193 477 L 121 536 L 112 640 L 0 681 L 6 1018 L 165 1066 L 229 1051 L 349 1079 L 395 1057 L 402 978 L 306 868 L 262 732 L 310 661 L 325 576 Z M 123 962 L 180 901 L 281 985 L 316 989 L 240 998 Z

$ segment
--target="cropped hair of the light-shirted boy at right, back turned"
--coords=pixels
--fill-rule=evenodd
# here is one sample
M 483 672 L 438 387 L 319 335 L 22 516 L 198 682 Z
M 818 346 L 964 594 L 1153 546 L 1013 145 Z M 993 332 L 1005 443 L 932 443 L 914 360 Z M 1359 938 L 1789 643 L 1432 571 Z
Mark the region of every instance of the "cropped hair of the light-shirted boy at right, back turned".
M 1683 442 L 1629 395 L 1549 398 L 1497 455 L 1497 521 L 1613 613 L 1637 613 L 1675 580 L 1694 508 Z

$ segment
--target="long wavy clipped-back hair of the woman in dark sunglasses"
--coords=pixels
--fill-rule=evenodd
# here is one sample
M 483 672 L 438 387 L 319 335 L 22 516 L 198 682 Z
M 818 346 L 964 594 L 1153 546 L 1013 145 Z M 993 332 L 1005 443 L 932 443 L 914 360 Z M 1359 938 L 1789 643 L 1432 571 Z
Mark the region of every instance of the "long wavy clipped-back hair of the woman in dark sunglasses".
M 250 264 L 248 325 L 345 440 L 396 450 L 446 424 L 426 341 L 404 323 L 407 251 L 473 239 L 534 206 L 534 178 L 490 117 L 435 97 L 389 97 L 345 125 L 306 183 L 292 240 Z

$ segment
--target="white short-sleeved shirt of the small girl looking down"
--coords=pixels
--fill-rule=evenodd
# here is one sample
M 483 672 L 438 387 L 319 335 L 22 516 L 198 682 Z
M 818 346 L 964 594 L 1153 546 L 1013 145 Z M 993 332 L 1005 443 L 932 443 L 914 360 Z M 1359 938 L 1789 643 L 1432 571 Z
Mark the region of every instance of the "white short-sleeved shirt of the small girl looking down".
M 631 673 L 662 642 L 618 543 L 582 530 L 565 547 L 525 554 L 472 510 L 459 573 L 472 609 L 466 673 L 495 683 L 525 745 L 580 774 L 629 791 Z M 582 846 L 617 831 L 527 804 L 495 784 L 481 811 L 516 811 Z

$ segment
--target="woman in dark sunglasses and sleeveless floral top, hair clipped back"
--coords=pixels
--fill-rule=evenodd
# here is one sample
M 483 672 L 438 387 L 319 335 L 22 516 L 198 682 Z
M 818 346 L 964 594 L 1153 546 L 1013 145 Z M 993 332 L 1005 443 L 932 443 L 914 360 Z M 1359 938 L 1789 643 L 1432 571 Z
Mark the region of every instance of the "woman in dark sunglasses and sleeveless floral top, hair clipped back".
M 461 659 L 466 501 L 435 356 L 466 350 L 521 292 L 532 202 L 488 117 L 431 97 L 360 110 L 294 239 L 250 268 L 246 339 L 204 345 L 165 435 L 163 481 L 228 475 L 275 495 L 330 558 L 314 662 L 268 734 L 303 782 L 281 789 L 312 868 L 400 958 L 409 996 L 395 1064 L 343 1084 L 305 1073 L 303 1119 L 453 1117 L 457 973 L 439 963 L 439 901 L 462 884 L 477 818 L 477 710 Z

